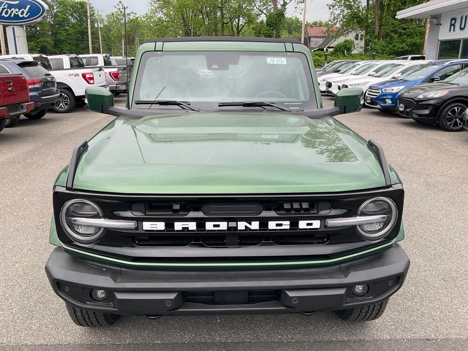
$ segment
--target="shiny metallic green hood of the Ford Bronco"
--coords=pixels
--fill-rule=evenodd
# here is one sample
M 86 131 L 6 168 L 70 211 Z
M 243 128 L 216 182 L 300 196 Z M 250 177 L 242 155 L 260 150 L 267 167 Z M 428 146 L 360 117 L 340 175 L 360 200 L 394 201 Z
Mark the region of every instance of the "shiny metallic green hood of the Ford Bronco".
M 133 194 L 315 193 L 385 180 L 366 141 L 333 118 L 184 113 L 115 119 L 89 142 L 73 185 Z

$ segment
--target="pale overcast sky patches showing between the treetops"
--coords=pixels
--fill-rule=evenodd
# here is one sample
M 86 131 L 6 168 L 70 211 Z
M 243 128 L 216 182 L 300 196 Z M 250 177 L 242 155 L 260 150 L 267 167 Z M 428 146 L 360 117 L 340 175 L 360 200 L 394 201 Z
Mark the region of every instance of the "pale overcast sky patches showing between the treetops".
M 114 11 L 114 5 L 118 0 L 90 0 L 93 6 L 101 13 L 106 14 Z M 312 21 L 326 21 L 328 19 L 327 4 L 332 0 L 308 0 L 307 1 L 307 15 L 306 20 Z M 147 0 L 123 0 L 123 3 L 129 7 L 129 10 L 138 14 L 144 14 L 147 9 Z M 289 16 L 296 16 L 302 19 L 302 8 L 294 11 L 293 6 L 288 8 Z

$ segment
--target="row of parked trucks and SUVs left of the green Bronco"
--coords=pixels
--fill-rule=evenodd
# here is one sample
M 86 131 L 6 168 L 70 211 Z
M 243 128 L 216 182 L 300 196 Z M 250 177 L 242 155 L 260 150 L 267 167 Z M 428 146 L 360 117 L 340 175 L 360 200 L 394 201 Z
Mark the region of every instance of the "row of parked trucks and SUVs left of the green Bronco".
M 21 114 L 39 119 L 49 109 L 68 113 L 75 106 L 84 106 L 84 91 L 90 86 L 107 87 L 115 95 L 125 93 L 133 60 L 101 54 L 0 56 L 0 130 L 16 125 Z M 18 75 L 24 77 L 23 83 Z M 29 92 L 27 101 L 25 91 Z M 25 105 L 28 102 L 33 104 Z M 26 106 L 33 106 L 33 109 L 26 110 Z

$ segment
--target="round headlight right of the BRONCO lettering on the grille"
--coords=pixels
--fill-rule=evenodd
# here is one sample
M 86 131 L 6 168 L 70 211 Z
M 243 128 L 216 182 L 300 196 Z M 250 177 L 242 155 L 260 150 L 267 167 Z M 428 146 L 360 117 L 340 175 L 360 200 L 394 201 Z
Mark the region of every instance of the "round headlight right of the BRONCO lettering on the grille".
M 364 202 L 358 210 L 359 217 L 378 215 L 382 216 L 381 221 L 356 227 L 364 239 L 379 240 L 390 233 L 397 222 L 397 205 L 388 197 L 375 197 Z

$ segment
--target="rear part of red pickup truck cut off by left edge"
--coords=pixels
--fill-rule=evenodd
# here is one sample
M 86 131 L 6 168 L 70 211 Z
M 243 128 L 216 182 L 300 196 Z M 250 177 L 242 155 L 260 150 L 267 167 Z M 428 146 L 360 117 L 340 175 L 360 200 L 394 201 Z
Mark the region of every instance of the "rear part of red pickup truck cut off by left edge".
M 0 131 L 13 117 L 34 109 L 29 102 L 29 88 L 21 74 L 0 74 Z

